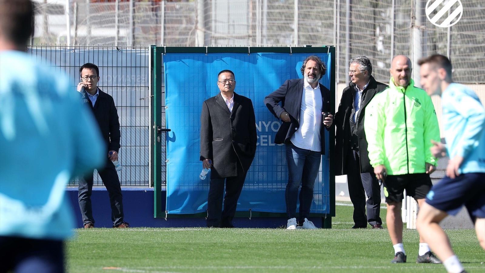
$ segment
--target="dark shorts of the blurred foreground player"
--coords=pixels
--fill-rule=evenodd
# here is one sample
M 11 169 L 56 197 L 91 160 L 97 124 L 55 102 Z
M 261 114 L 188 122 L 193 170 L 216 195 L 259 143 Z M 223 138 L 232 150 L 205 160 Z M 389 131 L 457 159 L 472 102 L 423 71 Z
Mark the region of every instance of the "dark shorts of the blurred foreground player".
M 63 273 L 64 242 L 0 236 L 0 273 Z

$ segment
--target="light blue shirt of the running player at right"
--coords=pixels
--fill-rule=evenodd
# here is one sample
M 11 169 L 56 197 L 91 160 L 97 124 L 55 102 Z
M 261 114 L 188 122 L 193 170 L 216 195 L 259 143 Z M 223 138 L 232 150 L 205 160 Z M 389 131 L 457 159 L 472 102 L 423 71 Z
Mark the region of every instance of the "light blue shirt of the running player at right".
M 464 157 L 460 173 L 485 172 L 485 109 L 480 99 L 467 86 L 452 83 L 441 105 L 450 158 Z

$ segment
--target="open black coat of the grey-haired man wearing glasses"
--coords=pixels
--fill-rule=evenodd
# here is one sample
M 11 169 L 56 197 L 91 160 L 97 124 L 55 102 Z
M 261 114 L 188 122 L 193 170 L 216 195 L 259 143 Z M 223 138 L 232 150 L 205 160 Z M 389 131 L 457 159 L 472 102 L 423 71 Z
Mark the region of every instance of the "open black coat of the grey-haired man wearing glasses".
M 382 92 L 388 85 L 377 82 L 371 76 L 369 85 L 364 89 L 365 98 L 361 102 L 360 110 L 357 113 L 357 135 L 359 142 L 359 157 L 360 157 L 360 172 L 374 172 L 369 160 L 369 152 L 367 151 L 367 139 L 364 132 L 364 116 L 365 107 L 375 94 Z M 352 82 L 345 87 L 340 99 L 340 105 L 335 114 L 334 124 L 335 129 L 335 175 L 347 174 L 346 160 L 347 153 L 351 149 L 351 124 L 350 119 L 354 115 L 354 98 L 356 94 L 356 85 Z

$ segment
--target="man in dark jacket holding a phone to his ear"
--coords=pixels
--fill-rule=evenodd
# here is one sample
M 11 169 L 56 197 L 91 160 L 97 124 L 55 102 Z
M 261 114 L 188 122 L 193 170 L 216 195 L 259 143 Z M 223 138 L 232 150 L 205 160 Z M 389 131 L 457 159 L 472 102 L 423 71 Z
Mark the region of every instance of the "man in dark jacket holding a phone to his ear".
M 121 133 L 116 106 L 114 105 L 113 97 L 97 87 L 99 82 L 99 68 L 97 65 L 86 63 L 79 68 L 79 73 L 80 82 L 77 90 L 81 93 L 82 102 L 93 111 L 101 135 L 108 147 L 105 166 L 102 169 L 97 169 L 97 172 L 110 196 L 113 227 L 126 228 L 129 227 L 129 224 L 123 220 L 123 196 L 118 174 L 116 173 L 116 171 L 121 170 L 118 161 Z M 89 149 L 89 144 L 87 148 Z M 84 228 L 94 227 L 95 222 L 91 207 L 93 171 L 79 179 L 78 200 Z

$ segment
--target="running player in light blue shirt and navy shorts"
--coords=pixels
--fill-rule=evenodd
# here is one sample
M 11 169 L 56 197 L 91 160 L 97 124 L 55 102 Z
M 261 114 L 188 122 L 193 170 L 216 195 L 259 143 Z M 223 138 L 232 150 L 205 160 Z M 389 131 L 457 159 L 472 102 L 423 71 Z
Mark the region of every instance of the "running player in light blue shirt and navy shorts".
M 464 272 L 439 222 L 455 215 L 463 205 L 475 224 L 485 250 L 485 109 L 465 85 L 453 83 L 452 64 L 443 55 L 419 61 L 421 85 L 431 95 L 441 95 L 447 147 L 434 143 L 435 156 L 450 156 L 446 177 L 431 188 L 418 214 L 417 228 L 450 273 Z

